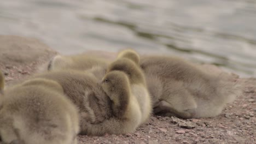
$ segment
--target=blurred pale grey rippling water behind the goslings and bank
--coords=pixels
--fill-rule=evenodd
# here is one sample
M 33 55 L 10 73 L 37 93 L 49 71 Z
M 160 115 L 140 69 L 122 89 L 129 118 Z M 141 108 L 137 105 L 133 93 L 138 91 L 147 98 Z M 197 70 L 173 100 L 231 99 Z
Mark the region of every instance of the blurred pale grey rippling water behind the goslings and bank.
M 65 55 L 132 47 L 256 76 L 255 0 L 2 0 L 0 34 Z

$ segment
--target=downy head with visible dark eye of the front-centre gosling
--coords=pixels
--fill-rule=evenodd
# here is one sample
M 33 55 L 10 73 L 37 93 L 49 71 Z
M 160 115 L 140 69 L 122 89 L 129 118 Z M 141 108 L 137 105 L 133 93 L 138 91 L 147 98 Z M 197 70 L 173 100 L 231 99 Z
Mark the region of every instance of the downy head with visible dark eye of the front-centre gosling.
M 110 71 L 102 79 L 102 88 L 107 95 L 120 94 L 129 88 L 129 79 L 123 71 Z

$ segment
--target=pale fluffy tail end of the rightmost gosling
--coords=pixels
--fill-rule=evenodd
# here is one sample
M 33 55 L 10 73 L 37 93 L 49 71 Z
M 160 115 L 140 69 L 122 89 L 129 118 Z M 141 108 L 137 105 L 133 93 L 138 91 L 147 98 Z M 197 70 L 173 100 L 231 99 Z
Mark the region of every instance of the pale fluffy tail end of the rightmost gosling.
M 200 99 L 197 104 L 197 118 L 219 115 L 226 104 L 232 103 L 242 94 L 243 85 L 238 80 L 223 74 L 213 78 L 211 86 L 205 91 L 208 97 Z

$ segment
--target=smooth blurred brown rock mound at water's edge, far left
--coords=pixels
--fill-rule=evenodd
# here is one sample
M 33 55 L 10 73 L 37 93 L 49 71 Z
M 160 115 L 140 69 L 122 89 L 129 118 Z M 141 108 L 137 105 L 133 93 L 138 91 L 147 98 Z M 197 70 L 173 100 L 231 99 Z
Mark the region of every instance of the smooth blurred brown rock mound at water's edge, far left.
M 34 63 L 42 57 L 49 59 L 57 53 L 40 40 L 14 35 L 0 35 L 0 51 L 0 63 L 7 69 Z

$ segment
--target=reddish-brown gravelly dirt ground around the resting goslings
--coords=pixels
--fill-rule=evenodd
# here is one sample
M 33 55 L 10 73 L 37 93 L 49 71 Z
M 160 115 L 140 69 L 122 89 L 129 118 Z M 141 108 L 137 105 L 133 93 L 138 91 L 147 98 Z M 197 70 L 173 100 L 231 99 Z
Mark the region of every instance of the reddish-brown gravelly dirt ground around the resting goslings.
M 4 42 L 1 39 L 0 37 L 0 44 Z M 38 41 L 37 43 L 36 46 L 40 45 Z M 47 46 L 44 45 L 44 47 Z M 0 45 L 0 56 L 3 54 L 3 49 L 4 47 Z M 27 50 L 24 51 L 27 52 Z M 33 61 L 26 62 L 20 59 L 14 62 L 13 59 L 0 58 L 0 69 L 5 74 L 5 82 L 10 85 L 13 81 L 36 73 L 38 65 L 49 61 L 56 52 L 48 51 L 43 54 Z M 3 55 L 8 56 L 7 53 Z M 22 52 L 16 55 L 20 56 Z M 135 133 L 105 136 L 79 135 L 79 143 L 256 143 L 256 79 L 239 79 L 238 81 L 245 85 L 243 94 L 234 103 L 227 105 L 222 114 L 217 117 L 185 120 L 176 117 L 152 116 L 150 121 L 137 128 Z

